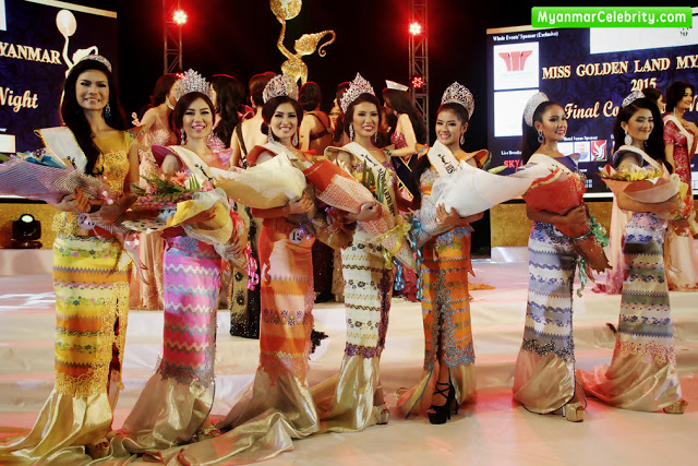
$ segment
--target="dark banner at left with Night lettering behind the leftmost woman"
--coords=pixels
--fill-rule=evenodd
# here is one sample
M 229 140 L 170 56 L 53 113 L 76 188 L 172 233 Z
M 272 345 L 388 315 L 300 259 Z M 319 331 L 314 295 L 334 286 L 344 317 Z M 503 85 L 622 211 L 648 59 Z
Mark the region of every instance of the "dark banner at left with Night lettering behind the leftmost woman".
M 52 0 L 0 0 L 0 152 L 35 150 L 59 126 L 63 82 L 88 53 L 117 70 L 117 14 Z

